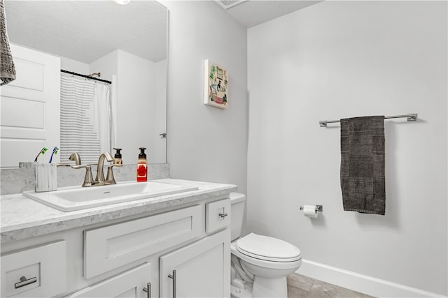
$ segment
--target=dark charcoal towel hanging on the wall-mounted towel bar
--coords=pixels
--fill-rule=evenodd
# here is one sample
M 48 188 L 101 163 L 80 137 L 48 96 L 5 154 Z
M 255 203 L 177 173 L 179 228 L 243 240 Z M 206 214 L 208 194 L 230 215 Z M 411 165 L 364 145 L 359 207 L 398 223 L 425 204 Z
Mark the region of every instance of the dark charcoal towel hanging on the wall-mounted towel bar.
M 341 119 L 341 189 L 345 211 L 384 215 L 384 116 Z

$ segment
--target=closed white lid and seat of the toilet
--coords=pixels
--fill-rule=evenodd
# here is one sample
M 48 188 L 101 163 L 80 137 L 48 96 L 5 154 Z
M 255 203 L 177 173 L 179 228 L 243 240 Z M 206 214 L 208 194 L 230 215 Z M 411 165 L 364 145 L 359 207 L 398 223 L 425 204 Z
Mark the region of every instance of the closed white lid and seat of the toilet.
M 300 249 L 281 239 L 248 234 L 237 240 L 237 250 L 260 260 L 273 262 L 293 262 L 300 260 Z

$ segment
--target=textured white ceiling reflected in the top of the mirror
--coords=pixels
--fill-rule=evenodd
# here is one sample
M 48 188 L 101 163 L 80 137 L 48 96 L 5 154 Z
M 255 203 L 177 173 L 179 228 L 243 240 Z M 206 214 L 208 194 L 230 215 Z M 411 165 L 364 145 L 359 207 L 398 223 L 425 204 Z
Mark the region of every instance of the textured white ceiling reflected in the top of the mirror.
M 167 8 L 156 1 L 4 3 L 11 43 L 87 64 L 116 49 L 155 62 L 167 57 Z

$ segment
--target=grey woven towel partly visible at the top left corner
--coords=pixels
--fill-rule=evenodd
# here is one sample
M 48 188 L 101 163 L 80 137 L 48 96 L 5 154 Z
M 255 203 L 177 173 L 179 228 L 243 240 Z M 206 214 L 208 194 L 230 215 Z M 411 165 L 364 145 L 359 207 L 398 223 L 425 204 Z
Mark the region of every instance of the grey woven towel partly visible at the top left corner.
M 15 66 L 6 35 L 6 16 L 0 0 L 0 86 L 15 80 Z

